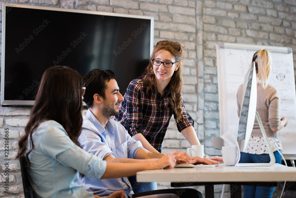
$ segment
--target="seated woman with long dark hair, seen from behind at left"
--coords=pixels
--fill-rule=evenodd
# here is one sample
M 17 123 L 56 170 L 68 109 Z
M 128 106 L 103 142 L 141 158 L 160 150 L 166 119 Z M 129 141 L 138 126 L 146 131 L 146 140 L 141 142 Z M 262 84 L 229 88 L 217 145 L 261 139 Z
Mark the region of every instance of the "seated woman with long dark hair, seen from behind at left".
M 75 185 L 79 173 L 92 178 L 118 178 L 141 170 L 172 168 L 176 160 L 165 156 L 144 163 L 107 163 L 80 148 L 82 78 L 73 69 L 53 66 L 44 72 L 17 156 L 26 156 L 30 182 L 40 179 L 40 197 L 94 197 Z M 114 171 L 116 170 L 116 171 Z M 95 196 L 97 197 L 97 196 Z M 109 196 L 125 197 L 124 191 Z

